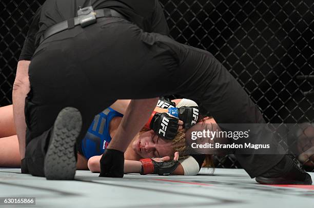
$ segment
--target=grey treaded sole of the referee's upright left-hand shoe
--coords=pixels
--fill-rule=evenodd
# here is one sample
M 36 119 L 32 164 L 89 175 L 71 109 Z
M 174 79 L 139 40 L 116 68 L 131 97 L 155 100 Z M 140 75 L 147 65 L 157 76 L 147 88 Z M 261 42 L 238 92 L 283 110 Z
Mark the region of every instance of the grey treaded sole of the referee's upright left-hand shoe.
M 76 171 L 74 146 L 81 132 L 81 113 L 72 107 L 58 114 L 45 157 L 45 176 L 48 180 L 73 180 Z

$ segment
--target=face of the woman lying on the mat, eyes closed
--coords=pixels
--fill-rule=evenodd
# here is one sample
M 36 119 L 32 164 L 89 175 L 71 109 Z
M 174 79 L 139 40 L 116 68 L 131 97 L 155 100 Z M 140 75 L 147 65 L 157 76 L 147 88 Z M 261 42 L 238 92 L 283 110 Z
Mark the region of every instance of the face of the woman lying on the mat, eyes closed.
M 142 158 L 172 156 L 171 140 L 165 140 L 154 134 L 153 130 L 140 134 L 133 140 L 132 149 Z

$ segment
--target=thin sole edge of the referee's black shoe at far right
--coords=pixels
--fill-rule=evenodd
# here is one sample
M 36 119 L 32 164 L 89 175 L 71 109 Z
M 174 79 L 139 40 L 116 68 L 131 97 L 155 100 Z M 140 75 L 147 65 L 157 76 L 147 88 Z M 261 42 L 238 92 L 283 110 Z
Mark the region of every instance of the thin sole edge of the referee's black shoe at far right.
M 285 178 L 265 178 L 265 177 L 256 177 L 255 180 L 261 184 L 266 185 L 311 185 L 311 178 L 307 178 L 305 181 L 300 180 L 287 180 Z

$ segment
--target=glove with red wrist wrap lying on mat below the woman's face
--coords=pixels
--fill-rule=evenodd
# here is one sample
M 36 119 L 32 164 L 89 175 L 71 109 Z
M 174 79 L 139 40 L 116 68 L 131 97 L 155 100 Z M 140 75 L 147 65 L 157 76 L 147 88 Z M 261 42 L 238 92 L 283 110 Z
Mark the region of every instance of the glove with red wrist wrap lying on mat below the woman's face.
M 178 160 L 157 162 L 153 159 L 141 159 L 142 169 L 141 175 L 158 174 L 160 176 L 170 175 L 176 167 L 178 167 Z

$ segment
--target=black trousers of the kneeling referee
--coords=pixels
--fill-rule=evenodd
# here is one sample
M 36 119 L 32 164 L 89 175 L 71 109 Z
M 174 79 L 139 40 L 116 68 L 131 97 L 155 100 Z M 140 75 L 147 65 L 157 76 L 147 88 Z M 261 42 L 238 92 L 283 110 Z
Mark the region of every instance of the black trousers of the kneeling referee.
M 57 114 L 65 107 L 75 107 L 82 114 L 79 139 L 93 117 L 116 99 L 180 94 L 200 100 L 217 123 L 265 122 L 243 88 L 212 54 L 143 32 L 114 17 L 46 39 L 31 60 L 29 79 L 25 158 L 29 173 L 35 176 L 44 176 L 45 145 Z M 251 177 L 266 172 L 283 157 L 236 156 Z

